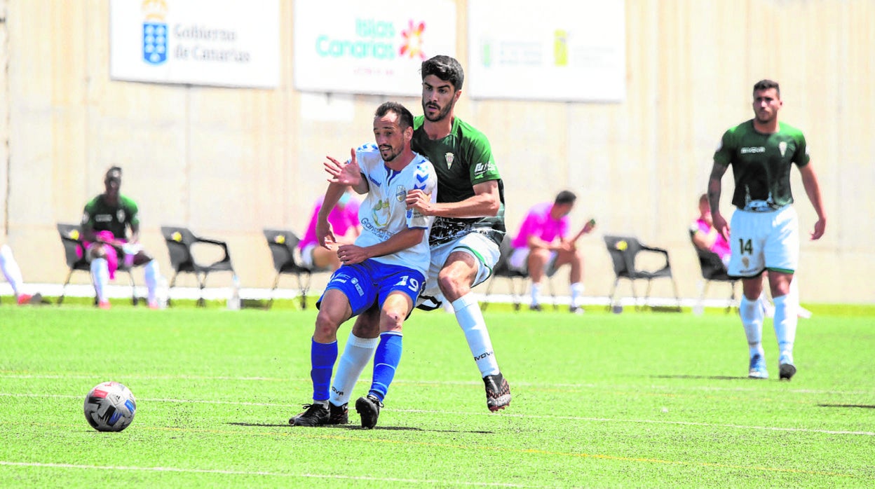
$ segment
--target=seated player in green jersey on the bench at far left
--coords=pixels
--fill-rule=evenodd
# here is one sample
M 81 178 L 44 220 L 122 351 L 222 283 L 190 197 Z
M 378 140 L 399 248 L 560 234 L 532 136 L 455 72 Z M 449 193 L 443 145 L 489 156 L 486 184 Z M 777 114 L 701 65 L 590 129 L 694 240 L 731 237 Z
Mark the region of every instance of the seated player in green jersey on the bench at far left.
M 97 304 L 109 309 L 106 283 L 116 274 L 119 261 L 124 268 L 145 265 L 146 289 L 149 307 L 158 309 L 158 262 L 139 244 L 140 219 L 137 204 L 125 197 L 122 187 L 122 169 L 113 166 L 103 178 L 105 192 L 88 201 L 82 213 L 82 239 L 91 262 L 91 278 L 95 284 Z M 130 228 L 130 235 L 128 229 Z

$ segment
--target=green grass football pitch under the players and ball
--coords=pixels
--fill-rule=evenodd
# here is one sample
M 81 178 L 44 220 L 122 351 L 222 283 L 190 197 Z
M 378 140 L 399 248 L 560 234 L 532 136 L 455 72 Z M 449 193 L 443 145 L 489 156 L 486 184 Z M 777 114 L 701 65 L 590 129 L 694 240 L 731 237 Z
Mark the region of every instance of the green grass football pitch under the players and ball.
M 451 314 L 415 311 L 375 430 L 293 428 L 316 311 L 0 306 L 2 487 L 872 487 L 875 316 L 801 319 L 799 373 L 746 378 L 736 314 L 502 311 L 514 395 L 486 410 Z M 340 351 L 349 324 L 339 332 Z M 353 400 L 367 393 L 370 366 Z M 137 396 L 127 430 L 88 389 Z

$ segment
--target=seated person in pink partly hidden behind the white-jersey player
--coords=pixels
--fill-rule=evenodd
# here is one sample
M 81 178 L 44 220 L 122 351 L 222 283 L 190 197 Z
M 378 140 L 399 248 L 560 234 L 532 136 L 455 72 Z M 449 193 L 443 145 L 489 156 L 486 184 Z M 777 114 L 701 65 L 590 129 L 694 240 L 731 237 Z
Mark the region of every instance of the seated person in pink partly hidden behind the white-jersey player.
M 337 248 L 322 248 L 316 239 L 316 222 L 324 198 L 325 196 L 320 196 L 316 200 L 307 232 L 304 233 L 301 242 L 297 243 L 297 248 L 301 250 L 301 262 L 303 262 L 304 267 L 334 271 L 340 268 Z M 338 242 L 335 244 L 352 244 L 355 241 L 355 238 L 360 234 L 361 227 L 359 224 L 359 201 L 353 197 L 352 192 L 347 191 L 340 196 L 339 202 L 328 214 L 328 223 L 331 225 L 334 235 L 337 236 Z

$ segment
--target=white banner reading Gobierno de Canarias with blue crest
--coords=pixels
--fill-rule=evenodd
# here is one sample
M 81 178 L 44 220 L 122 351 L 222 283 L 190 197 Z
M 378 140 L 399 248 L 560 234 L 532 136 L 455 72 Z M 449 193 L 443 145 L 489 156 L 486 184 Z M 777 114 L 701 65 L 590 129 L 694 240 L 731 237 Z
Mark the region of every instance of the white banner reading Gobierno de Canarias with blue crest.
M 113 80 L 279 85 L 279 0 L 110 0 Z

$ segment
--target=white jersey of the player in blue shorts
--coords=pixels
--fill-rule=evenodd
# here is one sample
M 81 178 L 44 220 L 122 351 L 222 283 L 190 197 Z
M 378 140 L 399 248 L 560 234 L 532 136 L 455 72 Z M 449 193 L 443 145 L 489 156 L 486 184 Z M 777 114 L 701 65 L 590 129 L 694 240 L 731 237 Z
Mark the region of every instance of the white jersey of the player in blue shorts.
M 404 202 L 407 192 L 418 189 L 437 202 L 437 176 L 429 160 L 414 153 L 413 160 L 401 171 L 389 169 L 380 156 L 376 145 L 365 144 L 355 150 L 359 170 L 367 178 L 368 191 L 359 206 L 361 234 L 355 240 L 360 247 L 367 247 L 402 232 L 408 228 L 423 228 L 423 241 L 401 251 L 376 256 L 376 262 L 400 265 L 428 274 L 430 264 L 429 230 L 433 216 L 408 210 Z

